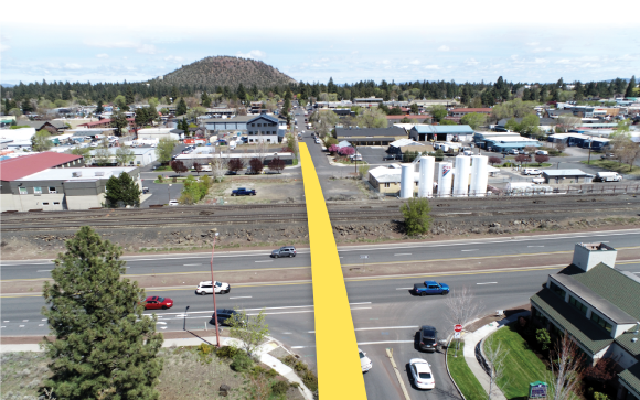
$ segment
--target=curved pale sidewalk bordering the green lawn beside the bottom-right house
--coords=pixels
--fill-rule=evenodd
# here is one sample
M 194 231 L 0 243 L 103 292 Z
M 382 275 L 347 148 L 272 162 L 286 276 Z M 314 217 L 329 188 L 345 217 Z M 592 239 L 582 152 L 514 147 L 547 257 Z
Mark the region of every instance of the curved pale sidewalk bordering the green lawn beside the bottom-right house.
M 489 393 L 489 375 L 484 371 L 484 368 L 482 367 L 482 365 L 480 363 L 484 363 L 484 357 L 482 356 L 482 352 L 480 349 L 480 346 L 482 345 L 482 340 L 491 335 L 492 333 L 494 333 L 495 331 L 500 329 L 502 326 L 510 324 L 514 321 L 516 321 L 520 316 L 523 315 L 529 315 L 529 312 L 522 312 L 522 313 L 518 313 L 518 314 L 513 314 L 509 317 L 505 317 L 501 321 L 497 321 L 497 322 L 492 322 L 488 325 L 482 326 L 481 328 L 479 328 L 476 332 L 469 333 L 467 335 L 465 335 L 465 347 L 463 347 L 463 354 L 465 354 L 465 360 L 467 361 L 467 365 L 469 366 L 469 368 L 471 369 L 471 372 L 473 372 L 473 375 L 476 376 L 476 378 L 478 378 L 478 381 L 480 382 L 480 385 L 482 385 L 482 388 L 484 388 L 484 391 L 487 393 Z M 506 400 L 506 398 L 504 397 L 504 394 L 502 393 L 502 391 L 500 390 L 500 388 L 498 388 L 497 386 L 493 388 L 493 391 L 491 393 L 491 399 L 492 400 Z

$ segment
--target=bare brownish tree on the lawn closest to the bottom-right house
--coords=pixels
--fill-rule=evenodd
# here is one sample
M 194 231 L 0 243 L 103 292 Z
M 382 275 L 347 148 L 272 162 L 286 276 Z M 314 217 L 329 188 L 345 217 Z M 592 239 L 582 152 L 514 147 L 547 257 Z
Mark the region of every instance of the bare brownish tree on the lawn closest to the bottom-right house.
M 569 400 L 579 387 L 584 357 L 565 332 L 550 354 L 548 400 Z

